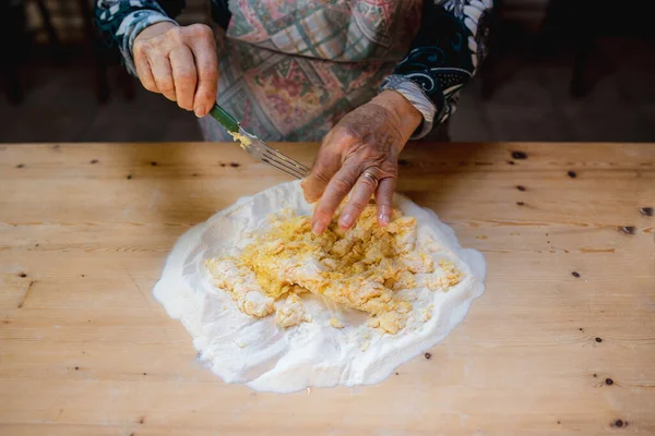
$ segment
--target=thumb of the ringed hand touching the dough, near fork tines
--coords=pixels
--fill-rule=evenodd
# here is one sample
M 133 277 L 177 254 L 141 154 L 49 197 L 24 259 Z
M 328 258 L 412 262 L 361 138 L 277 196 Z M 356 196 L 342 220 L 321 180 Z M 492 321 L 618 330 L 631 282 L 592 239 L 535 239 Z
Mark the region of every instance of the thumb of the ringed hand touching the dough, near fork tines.
M 333 130 L 325 135 L 310 174 L 300 183 L 308 203 L 315 203 L 321 198 L 327 184 L 342 166 L 342 150 L 347 149 L 355 142 L 357 140 L 353 135 L 338 130 Z

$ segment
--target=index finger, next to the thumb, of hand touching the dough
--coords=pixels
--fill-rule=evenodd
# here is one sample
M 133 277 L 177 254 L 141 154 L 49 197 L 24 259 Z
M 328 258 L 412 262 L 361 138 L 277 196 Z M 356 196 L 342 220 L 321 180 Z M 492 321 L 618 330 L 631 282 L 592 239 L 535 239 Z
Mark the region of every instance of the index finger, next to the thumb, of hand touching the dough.
M 314 208 L 311 226 L 314 233 L 321 234 L 327 228 L 338 205 L 348 195 L 360 173 L 360 165 L 355 160 L 347 160 L 330 180 Z

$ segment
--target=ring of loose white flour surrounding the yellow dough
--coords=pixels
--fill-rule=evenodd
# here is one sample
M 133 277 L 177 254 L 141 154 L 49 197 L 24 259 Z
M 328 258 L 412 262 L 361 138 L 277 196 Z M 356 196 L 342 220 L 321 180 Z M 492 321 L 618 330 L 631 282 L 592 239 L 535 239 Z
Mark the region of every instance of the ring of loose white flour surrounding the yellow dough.
M 365 314 L 314 295 L 302 298 L 311 322 L 281 328 L 273 316 L 258 319 L 245 315 L 227 292 L 213 286 L 205 259 L 238 252 L 252 240 L 253 231 L 266 226 L 266 216 L 272 213 L 290 207 L 298 215 L 311 214 L 299 182 L 240 198 L 182 235 L 154 294 L 189 330 L 201 360 L 227 383 L 291 392 L 309 386 L 382 382 L 398 365 L 441 341 L 485 290 L 480 253 L 462 249 L 453 230 L 431 210 L 397 194 L 394 202 L 405 215 L 417 219 L 418 246 L 434 262 L 448 259 L 464 274 L 448 292 L 421 287 L 402 291 L 413 311 L 406 327 L 396 335 L 367 327 Z

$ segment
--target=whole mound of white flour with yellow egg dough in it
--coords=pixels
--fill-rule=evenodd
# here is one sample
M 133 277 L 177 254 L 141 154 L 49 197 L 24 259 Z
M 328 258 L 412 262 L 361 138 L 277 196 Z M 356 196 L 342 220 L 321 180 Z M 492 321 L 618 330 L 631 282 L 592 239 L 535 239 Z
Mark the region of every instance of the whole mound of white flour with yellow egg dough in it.
M 154 289 L 199 359 L 264 391 L 379 383 L 464 319 L 485 261 L 429 209 L 395 195 L 320 237 L 299 182 L 239 199 L 187 232 Z M 438 360 L 432 359 L 438 362 Z

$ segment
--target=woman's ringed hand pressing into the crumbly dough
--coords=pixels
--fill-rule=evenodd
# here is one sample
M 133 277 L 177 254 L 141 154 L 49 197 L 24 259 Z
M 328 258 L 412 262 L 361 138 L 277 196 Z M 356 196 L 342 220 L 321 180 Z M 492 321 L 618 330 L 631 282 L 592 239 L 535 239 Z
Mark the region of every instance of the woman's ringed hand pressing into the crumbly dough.
M 326 228 L 342 201 L 338 225 L 349 229 L 376 195 L 378 222 L 391 219 L 398 154 L 422 120 L 401 94 L 385 90 L 344 117 L 325 135 L 311 173 L 301 183 L 305 197 L 318 204 L 312 230 Z

